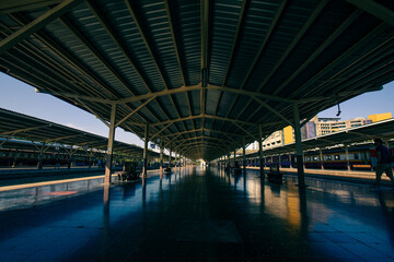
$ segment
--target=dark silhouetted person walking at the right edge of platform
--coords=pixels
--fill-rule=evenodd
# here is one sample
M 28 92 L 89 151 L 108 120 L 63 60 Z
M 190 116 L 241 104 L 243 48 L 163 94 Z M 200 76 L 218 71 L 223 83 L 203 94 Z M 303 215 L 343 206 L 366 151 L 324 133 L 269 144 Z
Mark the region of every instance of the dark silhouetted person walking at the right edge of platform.
M 381 139 L 374 139 L 373 143 L 376 148 L 376 181 L 373 184 L 374 188 L 380 188 L 381 179 L 383 171 L 390 178 L 393 183 L 394 189 L 394 179 L 393 179 L 393 165 L 392 165 L 392 153 L 391 151 L 383 145 L 383 141 Z

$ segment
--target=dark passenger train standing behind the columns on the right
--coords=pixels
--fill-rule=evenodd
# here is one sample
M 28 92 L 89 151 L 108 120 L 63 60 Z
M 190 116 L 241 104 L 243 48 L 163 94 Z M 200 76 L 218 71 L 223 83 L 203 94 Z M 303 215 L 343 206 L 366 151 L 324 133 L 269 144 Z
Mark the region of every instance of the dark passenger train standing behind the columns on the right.
M 390 147 L 394 155 L 394 147 Z M 321 157 L 323 159 L 321 159 Z M 243 165 L 243 159 L 237 158 L 237 163 Z M 263 158 L 264 166 L 270 167 L 271 165 L 278 165 L 280 167 L 296 168 L 297 158 L 292 154 L 282 154 L 266 156 Z M 344 147 L 334 147 L 320 151 L 304 152 L 304 167 L 311 169 L 348 169 L 351 170 L 373 170 L 376 165 L 376 151 L 370 145 L 359 145 L 348 148 L 348 159 L 346 158 L 346 151 Z M 247 167 L 259 167 L 259 157 L 254 155 L 253 157 L 246 157 L 245 165 Z

